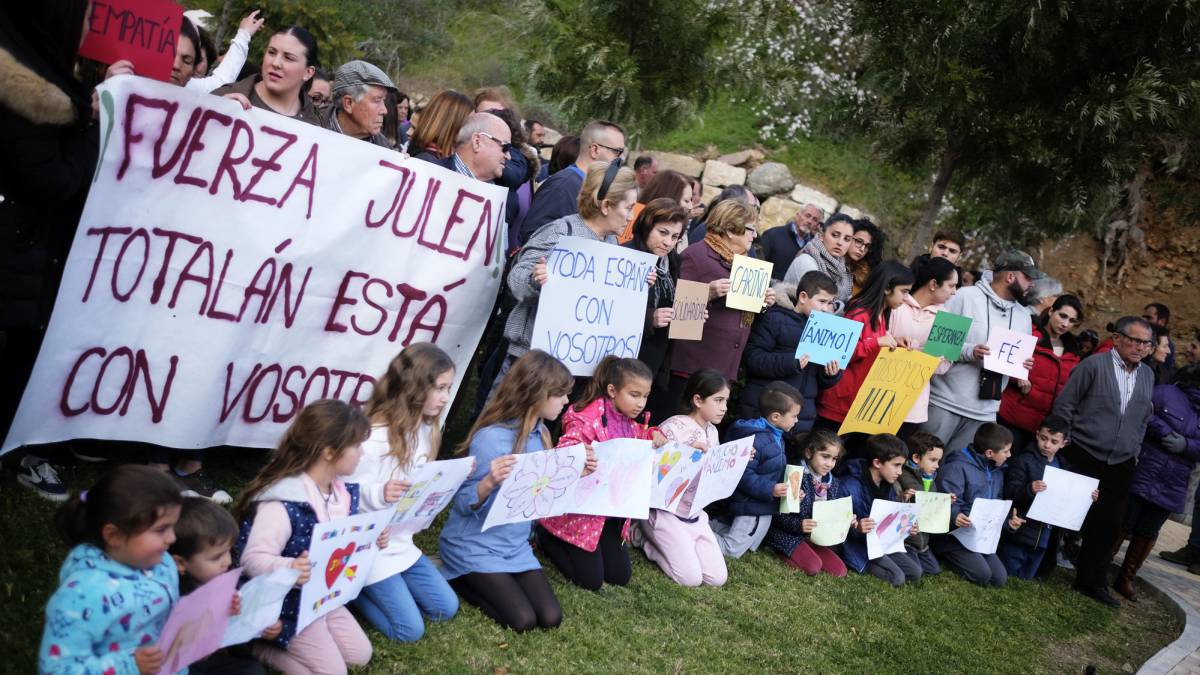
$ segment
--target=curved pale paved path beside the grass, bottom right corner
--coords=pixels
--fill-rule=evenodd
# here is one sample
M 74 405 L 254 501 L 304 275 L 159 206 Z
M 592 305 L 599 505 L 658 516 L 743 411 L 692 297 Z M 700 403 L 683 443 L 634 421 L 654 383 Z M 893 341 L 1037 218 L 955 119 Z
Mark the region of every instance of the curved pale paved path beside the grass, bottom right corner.
M 1200 575 L 1158 557 L 1158 551 L 1174 551 L 1186 544 L 1189 532 L 1186 525 L 1168 520 L 1154 552 L 1138 573 L 1174 601 L 1187 617 L 1183 634 L 1144 663 L 1139 674 L 1200 675 Z

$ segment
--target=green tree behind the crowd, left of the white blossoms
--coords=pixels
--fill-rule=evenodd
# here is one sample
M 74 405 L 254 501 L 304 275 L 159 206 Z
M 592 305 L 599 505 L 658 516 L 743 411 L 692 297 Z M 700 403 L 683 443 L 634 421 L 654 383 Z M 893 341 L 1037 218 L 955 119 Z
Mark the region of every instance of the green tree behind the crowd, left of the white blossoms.
M 529 83 L 568 121 L 606 118 L 638 137 L 709 100 L 726 20 L 703 0 L 526 0 Z

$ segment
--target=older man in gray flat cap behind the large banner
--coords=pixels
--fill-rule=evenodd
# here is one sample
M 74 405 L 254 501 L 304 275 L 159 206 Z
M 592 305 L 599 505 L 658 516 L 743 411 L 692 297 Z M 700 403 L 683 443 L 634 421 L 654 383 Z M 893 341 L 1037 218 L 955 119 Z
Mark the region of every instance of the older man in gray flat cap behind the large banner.
M 388 73 L 366 61 L 349 61 L 334 74 L 334 107 L 325 129 L 392 149 L 379 132 L 388 115 L 388 90 L 395 90 Z

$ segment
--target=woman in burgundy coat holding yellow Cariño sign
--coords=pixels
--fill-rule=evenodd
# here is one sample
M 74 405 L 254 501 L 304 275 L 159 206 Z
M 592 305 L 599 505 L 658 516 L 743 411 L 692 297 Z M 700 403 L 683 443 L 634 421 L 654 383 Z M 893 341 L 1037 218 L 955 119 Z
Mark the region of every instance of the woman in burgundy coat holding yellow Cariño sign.
M 715 368 L 737 380 L 756 312 L 730 309 L 725 298 L 732 283 L 733 256 L 744 256 L 757 234 L 758 209 L 739 199 L 718 204 L 709 214 L 703 241 L 680 255 L 679 279 L 708 283 L 708 321 L 701 340 L 676 340 L 671 353 L 671 399 L 683 398 L 688 377 L 702 368 Z M 775 304 L 768 289 L 764 305 Z

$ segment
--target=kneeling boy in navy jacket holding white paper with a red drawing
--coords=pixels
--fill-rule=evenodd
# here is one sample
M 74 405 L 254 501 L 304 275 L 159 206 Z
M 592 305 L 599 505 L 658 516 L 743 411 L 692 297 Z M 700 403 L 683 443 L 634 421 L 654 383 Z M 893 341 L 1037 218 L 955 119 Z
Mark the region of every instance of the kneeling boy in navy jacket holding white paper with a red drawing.
M 858 520 L 841 546 L 842 558 L 859 574 L 869 573 L 896 587 L 920 579 L 920 563 L 907 551 L 868 560 L 866 534 L 875 530 L 875 521 L 871 520 L 875 500 L 900 501 L 895 483 L 907 455 L 904 441 L 892 434 L 876 434 L 866 441 L 866 459 L 847 462 L 846 477 L 842 478 L 842 490 L 850 495 Z M 913 526 L 912 534 L 916 533 L 917 527 Z

